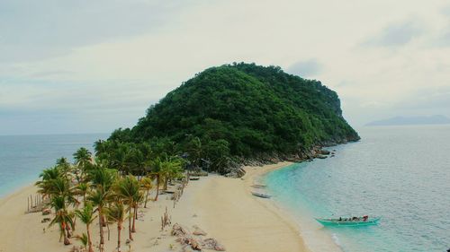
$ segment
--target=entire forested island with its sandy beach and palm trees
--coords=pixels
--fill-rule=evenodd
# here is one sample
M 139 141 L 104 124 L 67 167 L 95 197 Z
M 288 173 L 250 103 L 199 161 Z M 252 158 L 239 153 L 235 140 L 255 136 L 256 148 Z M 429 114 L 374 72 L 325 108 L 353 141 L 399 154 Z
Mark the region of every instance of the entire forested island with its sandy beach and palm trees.
M 211 67 L 136 126 L 2 199 L 0 250 L 309 251 L 295 221 L 252 190 L 270 170 L 359 139 L 319 81 L 278 66 Z

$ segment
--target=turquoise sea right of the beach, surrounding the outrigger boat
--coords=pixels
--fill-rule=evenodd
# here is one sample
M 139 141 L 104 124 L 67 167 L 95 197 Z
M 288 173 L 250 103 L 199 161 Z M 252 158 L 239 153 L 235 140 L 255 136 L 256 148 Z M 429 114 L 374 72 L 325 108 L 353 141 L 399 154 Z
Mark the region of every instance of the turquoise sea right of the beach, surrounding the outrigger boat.
M 329 148 L 335 157 L 268 173 L 275 203 L 301 225 L 333 213 L 383 216 L 378 226 L 320 230 L 344 251 L 450 248 L 450 126 L 365 127 L 359 134 L 358 143 Z

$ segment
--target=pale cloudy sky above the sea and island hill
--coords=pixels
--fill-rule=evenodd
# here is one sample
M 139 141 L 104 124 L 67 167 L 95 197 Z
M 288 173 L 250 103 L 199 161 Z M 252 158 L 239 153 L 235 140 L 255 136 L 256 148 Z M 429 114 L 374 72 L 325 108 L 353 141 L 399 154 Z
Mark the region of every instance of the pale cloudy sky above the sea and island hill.
M 232 62 L 320 80 L 352 126 L 450 117 L 450 1 L 2 0 L 0 135 L 134 126 Z

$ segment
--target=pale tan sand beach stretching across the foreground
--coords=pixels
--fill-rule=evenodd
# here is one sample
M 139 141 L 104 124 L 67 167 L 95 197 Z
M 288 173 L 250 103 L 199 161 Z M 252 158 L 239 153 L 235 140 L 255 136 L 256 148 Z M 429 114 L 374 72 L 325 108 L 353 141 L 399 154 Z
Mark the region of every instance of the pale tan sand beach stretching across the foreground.
M 291 217 L 271 200 L 257 198 L 250 193 L 254 188 L 249 186 L 258 176 L 288 164 L 246 167 L 247 174 L 243 178 L 211 175 L 190 181 L 175 208 L 168 195 L 159 196 L 157 202 L 148 203 L 147 209 L 139 209 L 131 251 L 181 251 L 181 246 L 170 236 L 171 229 L 160 230 L 160 218 L 166 208 L 172 223 L 178 222 L 191 230 L 193 225 L 197 225 L 208 233 L 207 238 L 218 239 L 230 252 L 310 251 Z M 45 217 L 41 213 L 25 213 L 27 196 L 35 195 L 35 192 L 36 187 L 24 187 L 0 200 L 0 252 L 60 252 L 69 251 L 73 245 L 79 246 L 76 239 L 71 239 L 73 245 L 70 246 L 59 242 L 58 228 L 49 228 L 48 223 L 41 223 Z M 125 245 L 127 223 L 124 226 L 121 251 L 129 251 Z M 117 244 L 116 226 L 111 225 L 110 230 L 111 237 L 104 250 L 108 252 L 116 251 Z M 84 231 L 85 227 L 78 221 L 75 235 Z M 94 244 L 98 244 L 98 232 L 98 221 L 95 221 L 92 227 Z

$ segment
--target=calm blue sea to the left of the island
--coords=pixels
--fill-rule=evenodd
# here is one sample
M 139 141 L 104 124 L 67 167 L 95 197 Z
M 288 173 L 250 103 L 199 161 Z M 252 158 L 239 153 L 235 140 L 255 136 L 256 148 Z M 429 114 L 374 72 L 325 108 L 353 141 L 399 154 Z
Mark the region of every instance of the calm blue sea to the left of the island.
M 0 135 L 0 196 L 38 179 L 42 169 L 62 156 L 73 161 L 80 147 L 93 151 L 94 141 L 106 134 L 87 135 Z

